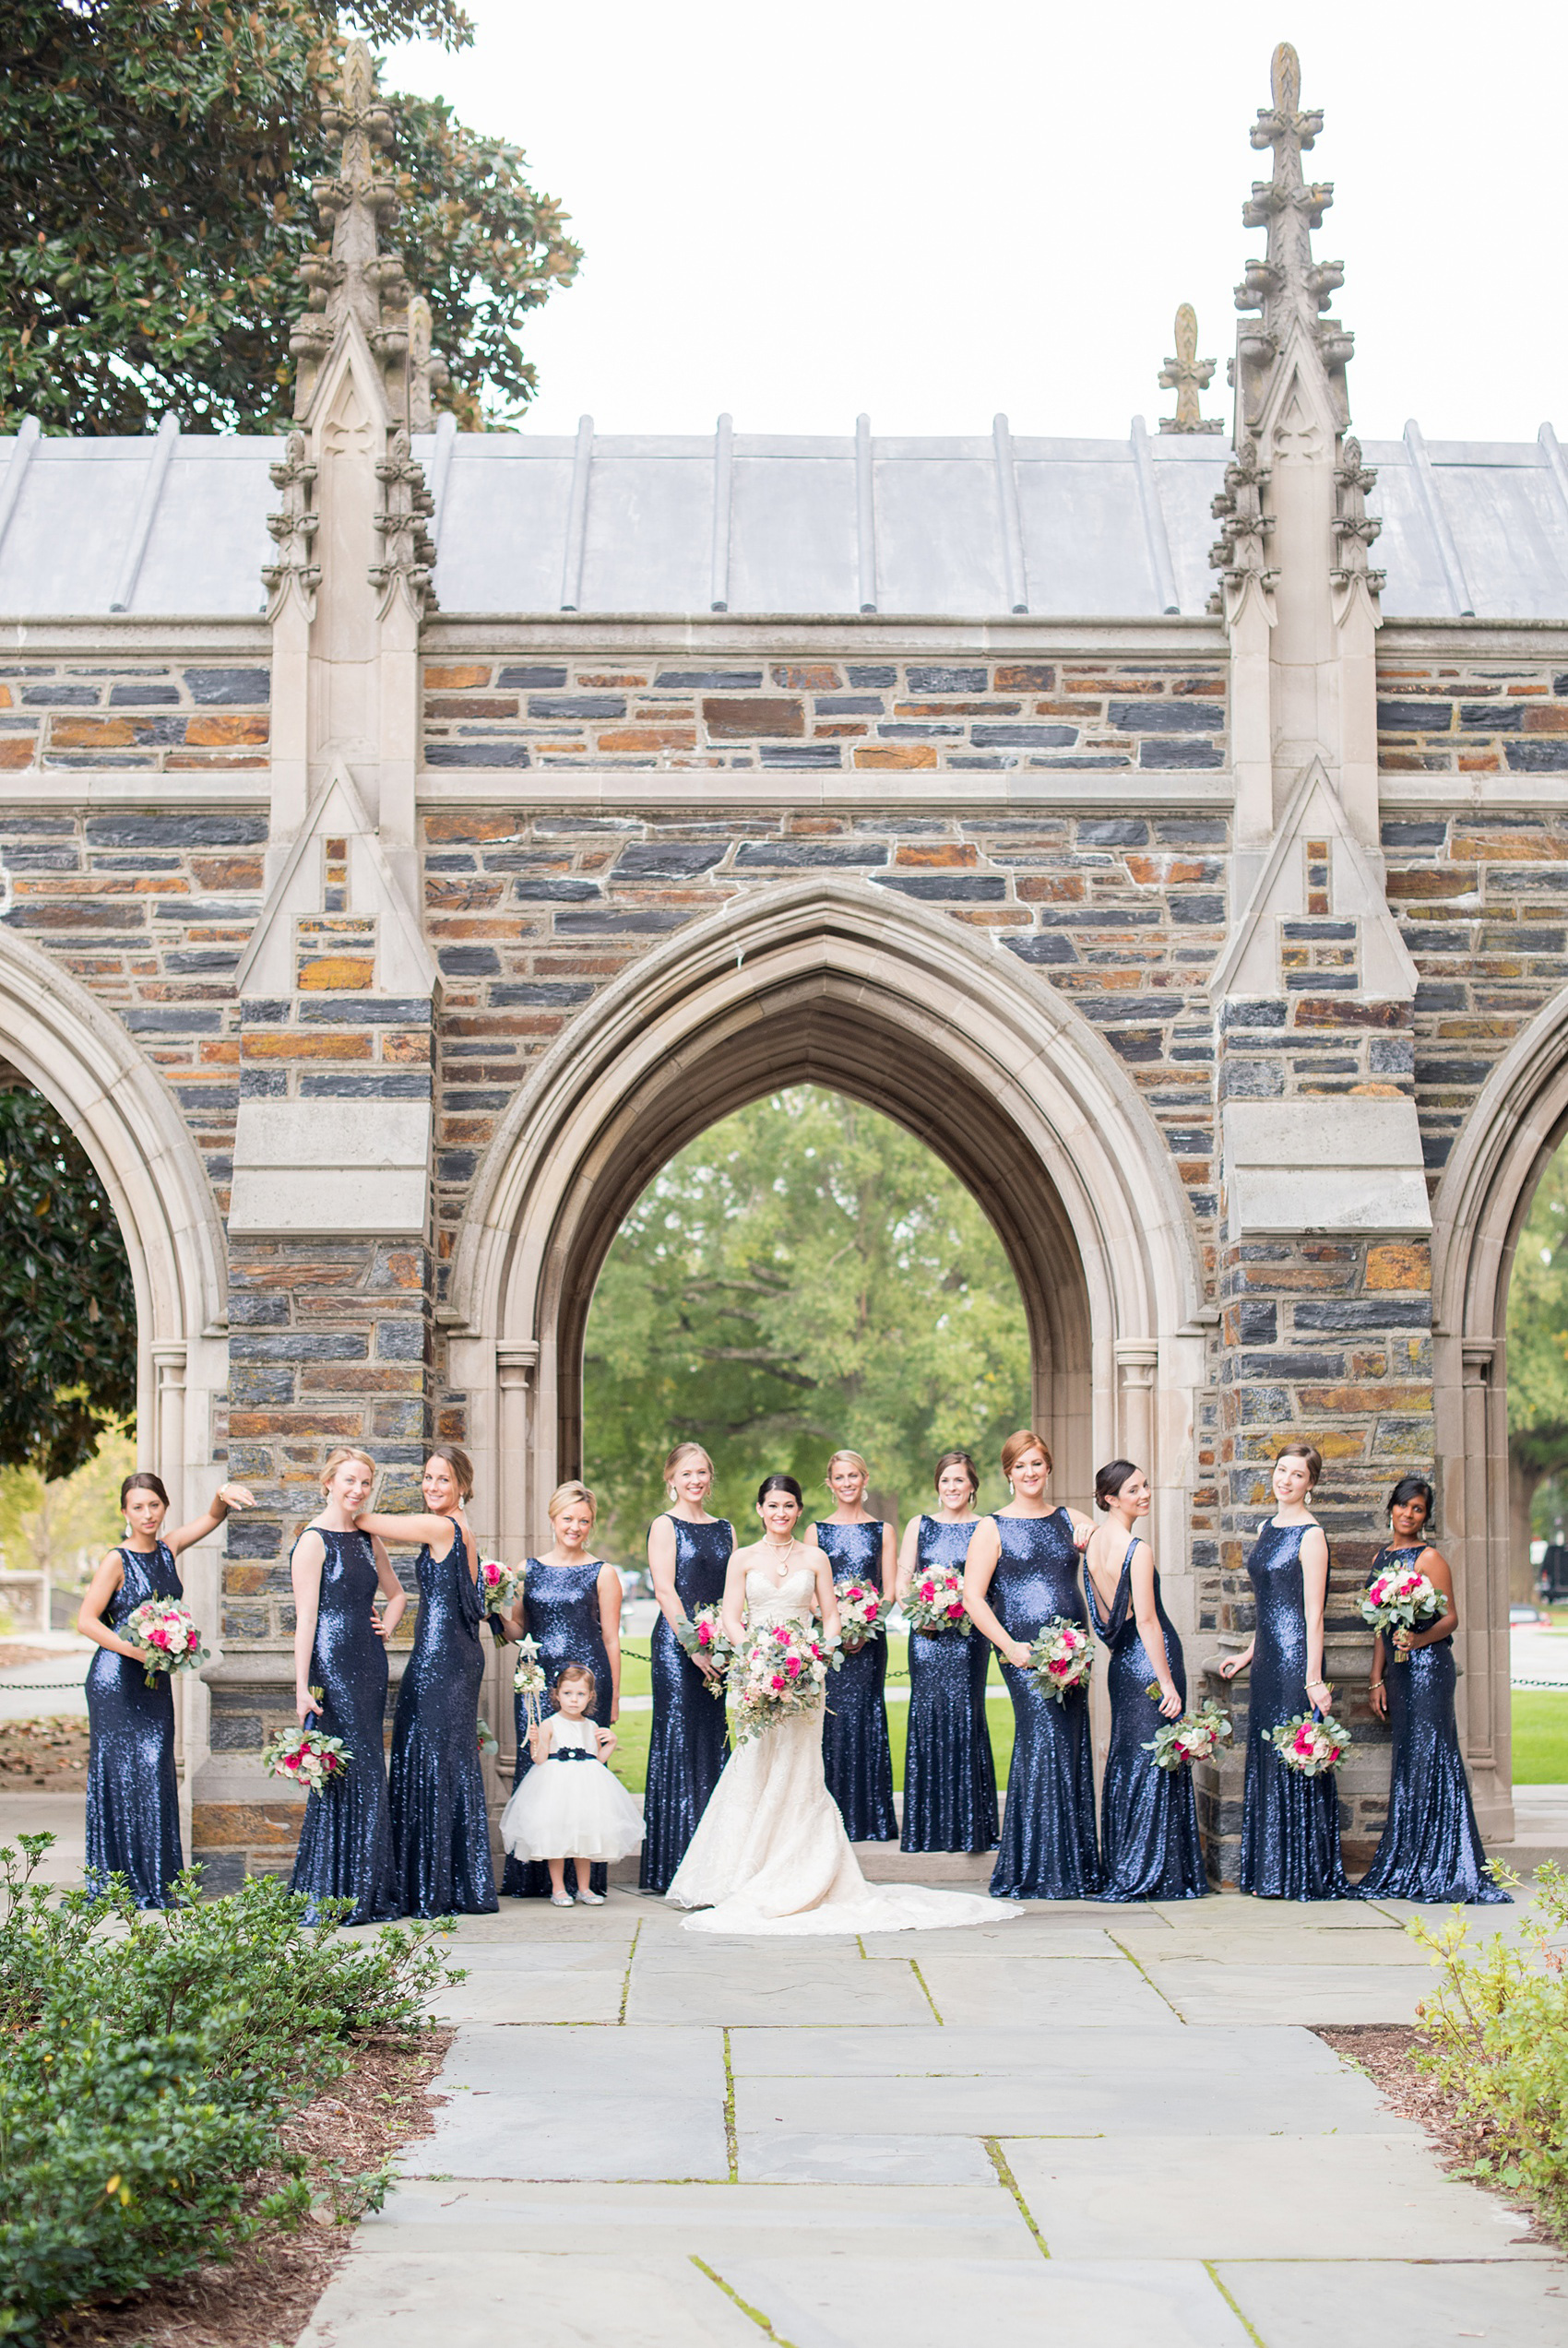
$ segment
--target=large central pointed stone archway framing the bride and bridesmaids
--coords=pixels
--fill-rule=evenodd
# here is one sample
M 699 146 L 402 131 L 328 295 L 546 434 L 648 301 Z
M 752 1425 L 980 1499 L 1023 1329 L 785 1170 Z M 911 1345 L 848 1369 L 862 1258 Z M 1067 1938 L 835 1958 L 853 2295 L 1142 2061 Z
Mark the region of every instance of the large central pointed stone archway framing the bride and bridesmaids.
M 758 890 L 627 972 L 542 1061 L 479 1167 L 451 1378 L 507 1552 L 575 1470 L 582 1334 L 622 1216 L 685 1141 L 782 1082 L 866 1101 L 946 1160 L 1023 1294 L 1059 1489 L 1148 1458 L 1185 1576 L 1197 1244 L 1131 1080 L 1049 986 L 866 883 Z

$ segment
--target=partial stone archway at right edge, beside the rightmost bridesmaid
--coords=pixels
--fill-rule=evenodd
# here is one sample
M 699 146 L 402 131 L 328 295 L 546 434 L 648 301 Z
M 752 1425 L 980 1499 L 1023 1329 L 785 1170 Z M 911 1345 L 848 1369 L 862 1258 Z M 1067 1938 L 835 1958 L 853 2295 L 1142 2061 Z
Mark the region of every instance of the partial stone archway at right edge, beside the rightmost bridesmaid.
M 1512 1841 L 1507 1289 L 1540 1174 L 1568 1134 L 1568 991 L 1502 1054 L 1432 1200 L 1432 1383 L 1444 1550 L 1460 1573 L 1460 1735 L 1476 1815 Z

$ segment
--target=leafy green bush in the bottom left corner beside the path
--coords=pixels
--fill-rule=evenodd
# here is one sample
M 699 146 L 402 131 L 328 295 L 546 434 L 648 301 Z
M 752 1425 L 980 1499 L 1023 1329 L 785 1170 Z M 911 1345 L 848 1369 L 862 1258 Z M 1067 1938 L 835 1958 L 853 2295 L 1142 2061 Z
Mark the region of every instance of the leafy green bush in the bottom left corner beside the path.
M 38 1883 L 52 1836 L 0 1848 L 0 2339 L 185 2275 L 310 2207 L 296 2174 L 256 2198 L 279 2125 L 376 2031 L 418 2031 L 444 1979 L 439 1925 L 305 1928 L 270 1876 L 143 1914 Z M 336 2179 L 343 2214 L 385 2177 Z

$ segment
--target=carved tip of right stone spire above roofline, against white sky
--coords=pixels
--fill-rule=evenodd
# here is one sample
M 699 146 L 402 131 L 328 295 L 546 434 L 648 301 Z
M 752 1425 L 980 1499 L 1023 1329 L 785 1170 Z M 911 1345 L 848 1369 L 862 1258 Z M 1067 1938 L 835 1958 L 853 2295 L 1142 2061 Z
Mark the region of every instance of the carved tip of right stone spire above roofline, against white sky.
M 1237 336 L 1237 430 L 1258 425 L 1275 364 L 1293 340 L 1305 340 L 1322 359 L 1336 427 L 1350 423 L 1345 362 L 1354 340 L 1338 319 L 1319 317 L 1336 286 L 1345 284 L 1345 263 L 1312 258 L 1312 230 L 1322 228 L 1333 202 L 1333 183 L 1307 181 L 1300 169 L 1300 157 L 1322 127 L 1322 113 L 1300 106 L 1300 61 L 1289 40 L 1282 40 L 1272 59 L 1272 106 L 1258 108 L 1251 131 L 1256 148 L 1275 150 L 1275 176 L 1253 181 L 1251 200 L 1242 207 L 1246 228 L 1268 230 L 1268 254 L 1246 263 L 1246 277 L 1237 286 L 1237 310 L 1263 312 L 1258 326 L 1244 326 Z

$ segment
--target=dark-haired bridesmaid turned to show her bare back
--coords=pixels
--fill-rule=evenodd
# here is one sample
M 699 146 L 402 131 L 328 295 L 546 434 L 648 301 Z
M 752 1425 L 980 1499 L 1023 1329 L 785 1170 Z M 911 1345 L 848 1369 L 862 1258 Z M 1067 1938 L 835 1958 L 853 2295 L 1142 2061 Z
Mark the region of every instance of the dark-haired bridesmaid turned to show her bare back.
M 1160 1723 L 1178 1721 L 1188 1702 L 1181 1639 L 1160 1599 L 1155 1552 L 1138 1533 L 1148 1477 L 1131 1460 L 1110 1460 L 1094 1479 L 1094 1498 L 1110 1519 L 1084 1550 L 1089 1615 L 1110 1648 L 1101 1900 L 1202 1900 L 1209 1878 L 1192 1770 L 1155 1768 L 1145 1752 Z

